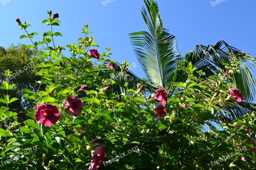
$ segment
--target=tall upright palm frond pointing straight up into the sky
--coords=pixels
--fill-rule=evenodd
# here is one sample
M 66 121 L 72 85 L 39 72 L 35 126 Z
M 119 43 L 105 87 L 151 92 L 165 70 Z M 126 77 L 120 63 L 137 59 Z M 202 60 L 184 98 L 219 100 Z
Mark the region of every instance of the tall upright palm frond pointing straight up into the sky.
M 163 28 L 157 4 L 152 0 L 144 2 L 148 12 L 143 7 L 141 13 L 150 33 L 130 33 L 130 40 L 148 80 L 167 89 L 182 57 L 177 50 L 175 36 Z

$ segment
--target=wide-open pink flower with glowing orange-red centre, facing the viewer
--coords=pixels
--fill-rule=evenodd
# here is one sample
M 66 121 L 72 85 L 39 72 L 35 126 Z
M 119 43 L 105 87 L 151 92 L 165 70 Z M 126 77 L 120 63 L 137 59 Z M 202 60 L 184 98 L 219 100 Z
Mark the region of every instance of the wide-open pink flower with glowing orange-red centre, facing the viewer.
M 41 104 L 35 107 L 36 122 L 44 126 L 53 126 L 60 119 L 60 111 L 52 104 Z

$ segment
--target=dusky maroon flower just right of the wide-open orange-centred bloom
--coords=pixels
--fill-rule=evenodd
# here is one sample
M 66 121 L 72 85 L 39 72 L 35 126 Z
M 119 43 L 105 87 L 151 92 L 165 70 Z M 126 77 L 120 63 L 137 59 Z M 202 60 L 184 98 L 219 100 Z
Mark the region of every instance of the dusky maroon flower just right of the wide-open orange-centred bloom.
M 83 106 L 83 99 L 77 98 L 74 95 L 71 96 L 71 98 L 66 98 L 64 100 L 64 103 L 66 105 L 66 112 L 68 115 L 73 116 L 81 116 L 82 113 L 82 106 Z

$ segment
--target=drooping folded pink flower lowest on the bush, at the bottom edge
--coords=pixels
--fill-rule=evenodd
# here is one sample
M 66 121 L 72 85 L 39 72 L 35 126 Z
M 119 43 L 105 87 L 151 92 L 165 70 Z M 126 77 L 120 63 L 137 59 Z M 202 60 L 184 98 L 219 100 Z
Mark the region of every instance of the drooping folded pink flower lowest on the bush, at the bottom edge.
M 99 146 L 95 149 L 94 152 L 92 152 L 92 162 L 89 167 L 89 170 L 97 170 L 102 160 L 107 156 L 105 145 Z

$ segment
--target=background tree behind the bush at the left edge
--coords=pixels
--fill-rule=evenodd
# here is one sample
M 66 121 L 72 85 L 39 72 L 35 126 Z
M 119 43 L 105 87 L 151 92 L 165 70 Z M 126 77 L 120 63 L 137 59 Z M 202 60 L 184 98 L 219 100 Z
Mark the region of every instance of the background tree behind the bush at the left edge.
M 25 44 L 12 44 L 8 48 L 0 47 L 0 80 L 5 80 L 4 70 L 12 71 L 12 79 L 8 80 L 8 83 L 15 84 L 13 90 L 8 92 L 10 98 L 16 97 L 19 100 L 13 102 L 10 105 L 10 109 L 13 112 L 20 113 L 22 110 L 31 110 L 34 107 L 33 103 L 23 98 L 24 93 L 22 89 L 38 88 L 36 81 L 39 81 L 39 77 L 36 76 L 36 71 L 34 68 L 35 65 L 35 56 L 36 51 L 34 49 L 26 49 Z M 21 72 L 20 72 L 21 71 Z M 2 84 L 1 84 L 2 85 Z M 0 96 L 6 95 L 2 89 L 0 89 Z M 3 103 L 0 103 L 0 107 L 3 106 Z M 19 122 L 26 120 L 26 115 L 20 113 L 18 115 Z

